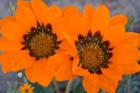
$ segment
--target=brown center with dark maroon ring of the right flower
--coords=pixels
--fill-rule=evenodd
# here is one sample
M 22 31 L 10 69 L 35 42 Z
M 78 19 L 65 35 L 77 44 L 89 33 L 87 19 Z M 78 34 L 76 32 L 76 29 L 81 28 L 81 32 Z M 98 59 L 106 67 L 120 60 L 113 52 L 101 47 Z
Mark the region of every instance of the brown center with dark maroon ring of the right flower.
M 98 31 L 94 35 L 89 31 L 87 36 L 78 36 L 75 41 L 78 55 L 80 58 L 79 65 L 91 73 L 101 74 L 101 68 L 108 67 L 109 58 L 112 56 L 112 49 L 109 48 L 109 41 L 102 41 L 102 35 Z

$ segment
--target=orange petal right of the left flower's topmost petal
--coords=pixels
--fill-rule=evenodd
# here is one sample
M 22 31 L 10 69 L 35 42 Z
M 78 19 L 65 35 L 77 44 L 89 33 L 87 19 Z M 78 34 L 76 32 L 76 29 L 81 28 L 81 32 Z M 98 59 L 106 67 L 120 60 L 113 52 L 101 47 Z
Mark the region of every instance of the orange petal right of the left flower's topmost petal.
M 61 9 L 56 6 L 52 5 L 49 7 L 46 16 L 46 25 L 51 24 L 52 25 L 52 31 L 57 35 L 58 40 L 63 40 L 65 37 L 63 35 L 63 32 L 66 31 L 65 21 L 62 18 L 62 11 Z

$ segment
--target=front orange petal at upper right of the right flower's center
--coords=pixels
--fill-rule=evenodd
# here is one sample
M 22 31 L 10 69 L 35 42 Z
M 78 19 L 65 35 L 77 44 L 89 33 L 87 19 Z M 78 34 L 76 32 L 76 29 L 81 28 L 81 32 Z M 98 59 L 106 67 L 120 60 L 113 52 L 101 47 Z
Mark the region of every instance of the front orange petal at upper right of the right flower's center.
M 103 35 L 104 40 L 110 42 L 111 47 L 115 47 L 122 42 L 125 35 L 124 26 L 114 26 L 109 29 L 106 29 Z

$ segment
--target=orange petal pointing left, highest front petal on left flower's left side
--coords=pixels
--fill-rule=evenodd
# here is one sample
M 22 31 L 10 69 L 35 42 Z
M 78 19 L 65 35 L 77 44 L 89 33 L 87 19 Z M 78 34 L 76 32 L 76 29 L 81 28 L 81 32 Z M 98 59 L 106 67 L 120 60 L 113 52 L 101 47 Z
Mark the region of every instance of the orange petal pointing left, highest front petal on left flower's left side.
M 21 42 L 26 30 L 16 22 L 7 22 L 1 27 L 1 32 L 8 40 Z

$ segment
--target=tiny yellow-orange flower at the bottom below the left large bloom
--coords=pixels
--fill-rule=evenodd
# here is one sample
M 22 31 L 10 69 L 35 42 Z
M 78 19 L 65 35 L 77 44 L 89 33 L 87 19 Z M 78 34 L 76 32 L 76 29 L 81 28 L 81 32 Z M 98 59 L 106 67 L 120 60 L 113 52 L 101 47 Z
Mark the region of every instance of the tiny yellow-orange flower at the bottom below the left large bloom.
M 19 93 L 33 93 L 33 87 L 28 83 L 19 87 Z

